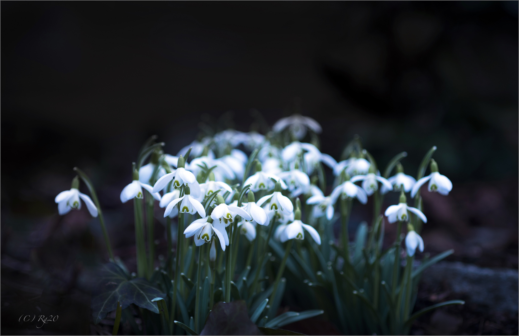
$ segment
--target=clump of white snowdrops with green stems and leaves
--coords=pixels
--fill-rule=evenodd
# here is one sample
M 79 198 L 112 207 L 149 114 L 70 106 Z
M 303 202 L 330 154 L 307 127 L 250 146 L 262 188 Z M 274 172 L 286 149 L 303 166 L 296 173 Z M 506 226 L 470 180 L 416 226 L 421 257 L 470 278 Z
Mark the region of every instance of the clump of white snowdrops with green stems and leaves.
M 120 200 L 134 201 L 136 276 L 157 285 L 166 297 L 149 300 L 156 307 L 151 310 L 160 313 L 156 325 L 162 333 L 200 333 L 218 301 L 244 300 L 252 323 L 264 333 L 265 327 L 275 329 L 324 313 L 344 333 L 402 334 L 416 317 L 434 308 L 411 314 L 423 269 L 452 253 L 426 257 L 421 263 L 414 260 L 416 249 L 424 251 L 419 232 L 427 222 L 420 187 L 428 184 L 429 192 L 442 195 L 452 190 L 432 159 L 436 147 L 426 153 L 415 179 L 404 173 L 400 163 L 405 152 L 396 155 L 381 174 L 358 137 L 337 162 L 319 150 L 320 132 L 315 120 L 294 115 L 280 119 L 267 135 L 226 130 L 194 141 L 176 156 L 163 153 L 163 143 L 155 143 L 155 138 L 143 146 L 133 164 L 133 181 L 121 191 Z M 428 166 L 430 174 L 425 176 Z M 96 217 L 100 206 L 93 186 L 82 171 L 75 170 L 94 201 L 79 192 L 76 177 L 72 189 L 56 197 L 59 213 L 79 209 L 83 200 Z M 325 195 L 327 175 L 334 179 L 329 195 Z M 400 193 L 399 203 L 384 211 L 387 221 L 398 228 L 394 244 L 383 250 L 385 220 L 380 207 L 388 192 Z M 414 207 L 407 205 L 406 194 Z M 366 204 L 369 197 L 373 197 L 372 223 L 361 223 L 350 242 L 352 202 Z M 166 218 L 169 255 L 159 256 L 160 267 L 155 267 L 154 202 L 165 208 Z M 336 237 L 333 223 L 338 218 L 341 232 Z M 112 264 L 125 270 L 118 258 L 113 259 L 100 219 Z M 193 237 L 192 243 L 182 234 Z M 159 273 L 168 279 L 157 280 Z M 290 284 L 291 290 L 319 309 L 276 316 Z M 440 305 L 455 303 L 461 302 Z M 114 310 L 113 303 L 104 306 L 108 308 L 94 314 L 104 317 Z M 119 319 L 126 306 L 117 302 Z

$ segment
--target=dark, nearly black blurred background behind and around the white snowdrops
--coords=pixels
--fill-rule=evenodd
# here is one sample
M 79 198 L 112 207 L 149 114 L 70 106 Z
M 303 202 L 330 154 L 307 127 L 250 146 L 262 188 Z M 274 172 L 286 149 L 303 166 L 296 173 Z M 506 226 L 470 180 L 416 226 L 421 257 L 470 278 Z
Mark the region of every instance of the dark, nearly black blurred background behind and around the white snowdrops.
M 89 274 L 106 258 L 99 222 L 84 210 L 60 217 L 53 202 L 70 188 L 72 167 L 91 176 L 115 253 L 134 268 L 132 209 L 119 193 L 141 144 L 158 134 L 175 155 L 200 121 L 262 131 L 257 111 L 269 125 L 296 110 L 316 119 L 321 149 L 336 159 L 354 134 L 380 166 L 406 150 L 411 175 L 438 146 L 434 158 L 454 188 L 424 193 L 426 250 L 517 269 L 517 2 L 1 9 L 2 333 L 104 332 L 88 306 Z M 18 322 L 40 313 L 60 314 L 60 323 Z M 517 330 L 507 329 L 510 318 L 485 317 L 489 326 L 474 318 L 475 327 L 466 317 L 448 332 Z

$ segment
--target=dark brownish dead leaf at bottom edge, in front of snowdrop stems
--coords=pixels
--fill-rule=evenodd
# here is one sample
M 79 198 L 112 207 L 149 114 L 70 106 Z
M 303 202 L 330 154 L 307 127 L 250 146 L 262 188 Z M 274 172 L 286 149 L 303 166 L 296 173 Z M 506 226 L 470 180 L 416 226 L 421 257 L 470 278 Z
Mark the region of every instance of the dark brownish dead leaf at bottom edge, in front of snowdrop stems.
M 216 303 L 209 313 L 206 325 L 200 332 L 200 335 L 259 334 L 260 329 L 250 320 L 247 304 L 243 300 Z

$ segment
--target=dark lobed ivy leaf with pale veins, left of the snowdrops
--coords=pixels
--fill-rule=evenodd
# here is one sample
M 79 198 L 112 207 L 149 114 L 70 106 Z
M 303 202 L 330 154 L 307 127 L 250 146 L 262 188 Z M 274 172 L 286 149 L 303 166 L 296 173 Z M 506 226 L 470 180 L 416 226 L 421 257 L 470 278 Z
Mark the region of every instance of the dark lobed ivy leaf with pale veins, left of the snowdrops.
M 115 263 L 106 263 L 102 266 L 101 276 L 92 298 L 92 316 L 94 324 L 98 324 L 106 314 L 117 309 L 117 301 L 122 309 L 134 303 L 139 307 L 159 313 L 157 303 L 152 302 L 156 297 L 164 296 L 146 279 L 129 279 L 124 270 Z

